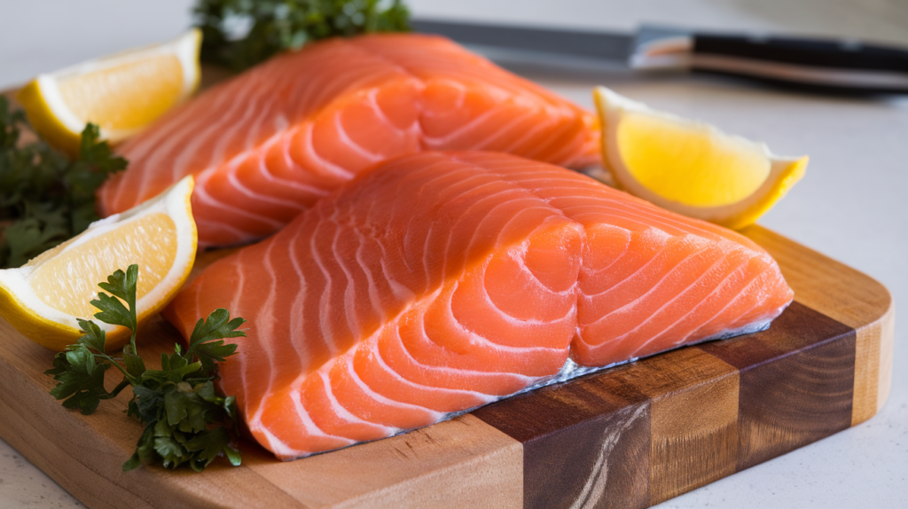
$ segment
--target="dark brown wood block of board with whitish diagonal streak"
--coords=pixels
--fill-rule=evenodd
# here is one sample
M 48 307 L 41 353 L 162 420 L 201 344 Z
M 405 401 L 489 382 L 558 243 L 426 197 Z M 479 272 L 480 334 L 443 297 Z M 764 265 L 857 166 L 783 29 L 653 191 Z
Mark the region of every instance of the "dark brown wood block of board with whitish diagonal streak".
M 649 400 L 624 377 L 543 387 L 473 415 L 523 444 L 524 507 L 649 506 Z

